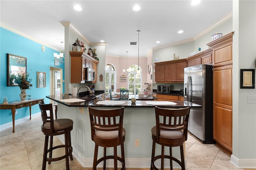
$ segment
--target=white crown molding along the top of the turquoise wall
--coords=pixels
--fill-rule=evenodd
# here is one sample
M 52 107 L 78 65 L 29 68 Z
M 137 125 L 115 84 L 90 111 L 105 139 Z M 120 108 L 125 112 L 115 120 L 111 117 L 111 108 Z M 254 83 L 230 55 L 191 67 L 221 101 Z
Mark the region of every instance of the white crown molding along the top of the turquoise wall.
M 29 39 L 29 40 L 32 40 L 32 41 L 37 42 L 37 43 L 40 43 L 41 45 L 44 45 L 44 46 L 49 47 L 49 48 L 51 48 L 51 49 L 54 49 L 54 50 L 56 50 L 56 51 L 60 51 L 60 49 L 56 49 L 56 48 L 53 47 L 52 45 L 50 45 L 50 44 L 48 44 L 48 43 L 45 43 L 45 42 L 42 42 L 42 41 L 40 41 L 40 40 L 38 40 L 38 39 L 36 39 L 36 38 L 34 38 L 34 37 L 32 37 L 32 36 L 29 36 L 29 35 L 27 35 L 27 34 L 21 32 L 21 31 L 19 31 L 19 30 L 16 30 L 16 29 L 14 29 L 14 28 L 12 28 L 12 27 L 10 27 L 10 26 L 8 26 L 8 25 L 2 23 L 2 22 L 0 22 L 0 26 L 1 26 L 2 28 L 6 29 L 6 30 L 9 30 L 10 32 L 13 32 L 13 33 L 15 33 L 15 34 L 18 34 L 18 35 L 20 35 L 20 36 L 22 36 L 22 37 L 25 37 L 25 38 Z

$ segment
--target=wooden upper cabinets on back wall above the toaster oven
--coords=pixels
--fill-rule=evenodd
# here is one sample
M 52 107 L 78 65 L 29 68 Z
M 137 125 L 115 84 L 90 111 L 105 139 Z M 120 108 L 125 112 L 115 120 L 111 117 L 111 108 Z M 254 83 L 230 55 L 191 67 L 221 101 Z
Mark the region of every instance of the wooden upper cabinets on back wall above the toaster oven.
M 156 64 L 156 82 L 158 83 L 183 83 L 184 68 L 187 67 L 186 59 L 158 62 Z

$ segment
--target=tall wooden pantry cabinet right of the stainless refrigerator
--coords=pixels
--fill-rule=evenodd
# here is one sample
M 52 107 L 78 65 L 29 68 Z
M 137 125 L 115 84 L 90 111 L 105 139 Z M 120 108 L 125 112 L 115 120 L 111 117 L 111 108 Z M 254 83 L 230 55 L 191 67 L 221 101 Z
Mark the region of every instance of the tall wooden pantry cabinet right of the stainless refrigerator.
M 232 153 L 232 42 L 233 33 L 207 45 L 213 53 L 213 137 Z

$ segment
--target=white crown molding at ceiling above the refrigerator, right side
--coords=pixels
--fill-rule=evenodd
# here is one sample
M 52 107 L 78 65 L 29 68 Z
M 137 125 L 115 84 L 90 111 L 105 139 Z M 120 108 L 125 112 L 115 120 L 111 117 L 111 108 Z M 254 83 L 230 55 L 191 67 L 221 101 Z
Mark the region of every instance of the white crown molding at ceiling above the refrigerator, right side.
M 220 20 L 214 22 L 212 25 L 208 26 L 206 29 L 204 29 L 202 32 L 200 32 L 199 34 L 197 34 L 196 36 L 193 37 L 194 40 L 197 40 L 198 38 L 202 37 L 204 34 L 208 33 L 210 30 L 216 28 L 217 26 L 219 26 L 220 24 L 223 24 L 224 22 L 226 22 L 227 20 L 229 20 L 230 18 L 233 17 L 233 11 L 229 12 L 228 14 L 226 14 L 225 16 L 223 16 L 222 18 L 220 18 Z

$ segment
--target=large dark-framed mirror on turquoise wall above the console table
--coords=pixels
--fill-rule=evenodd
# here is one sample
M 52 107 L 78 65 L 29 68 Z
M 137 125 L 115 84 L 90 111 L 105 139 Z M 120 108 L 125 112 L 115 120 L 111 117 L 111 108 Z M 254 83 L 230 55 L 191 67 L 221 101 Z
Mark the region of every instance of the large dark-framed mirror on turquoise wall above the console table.
M 7 53 L 7 86 L 18 86 L 14 77 L 27 72 L 27 58 Z

